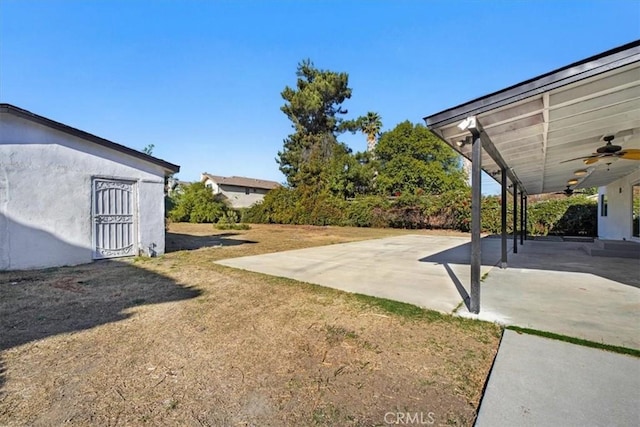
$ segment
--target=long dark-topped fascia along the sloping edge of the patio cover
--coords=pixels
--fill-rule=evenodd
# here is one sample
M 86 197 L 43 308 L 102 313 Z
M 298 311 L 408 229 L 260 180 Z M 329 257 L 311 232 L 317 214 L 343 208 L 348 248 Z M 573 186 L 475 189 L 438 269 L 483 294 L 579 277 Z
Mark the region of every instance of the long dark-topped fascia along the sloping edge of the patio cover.
M 456 107 L 426 116 L 423 120 L 430 129 L 442 127 L 464 120 L 468 116 L 478 115 L 531 96 L 540 95 L 543 92 L 638 61 L 640 61 L 640 40 L 635 40 Z

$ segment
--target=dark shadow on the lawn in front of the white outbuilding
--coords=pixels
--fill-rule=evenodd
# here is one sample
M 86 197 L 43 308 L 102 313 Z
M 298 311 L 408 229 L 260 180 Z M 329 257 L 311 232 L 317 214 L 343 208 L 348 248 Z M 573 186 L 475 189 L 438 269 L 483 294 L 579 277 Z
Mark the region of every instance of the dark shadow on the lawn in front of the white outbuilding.
M 122 261 L 0 272 L 0 351 L 125 320 L 136 306 L 200 294 L 198 289 Z M 6 369 L 0 357 L 0 391 Z

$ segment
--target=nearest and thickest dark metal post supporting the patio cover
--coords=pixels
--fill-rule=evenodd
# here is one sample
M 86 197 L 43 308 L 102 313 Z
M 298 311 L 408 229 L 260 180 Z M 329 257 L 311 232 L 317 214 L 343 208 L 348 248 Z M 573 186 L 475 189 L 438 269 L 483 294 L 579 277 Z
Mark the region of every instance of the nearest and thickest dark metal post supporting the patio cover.
M 482 140 L 479 133 L 473 135 L 471 149 L 471 301 L 469 311 L 480 312 L 480 264 L 482 245 L 480 242 L 481 203 L 482 203 Z

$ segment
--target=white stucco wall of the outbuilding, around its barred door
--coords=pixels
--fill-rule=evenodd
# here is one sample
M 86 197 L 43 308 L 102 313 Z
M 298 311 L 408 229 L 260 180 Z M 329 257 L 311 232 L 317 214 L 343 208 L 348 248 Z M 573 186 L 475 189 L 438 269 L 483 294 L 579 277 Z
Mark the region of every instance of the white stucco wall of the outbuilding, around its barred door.
M 92 260 L 92 178 L 136 182 L 137 239 L 164 252 L 162 167 L 0 113 L 0 270 Z

